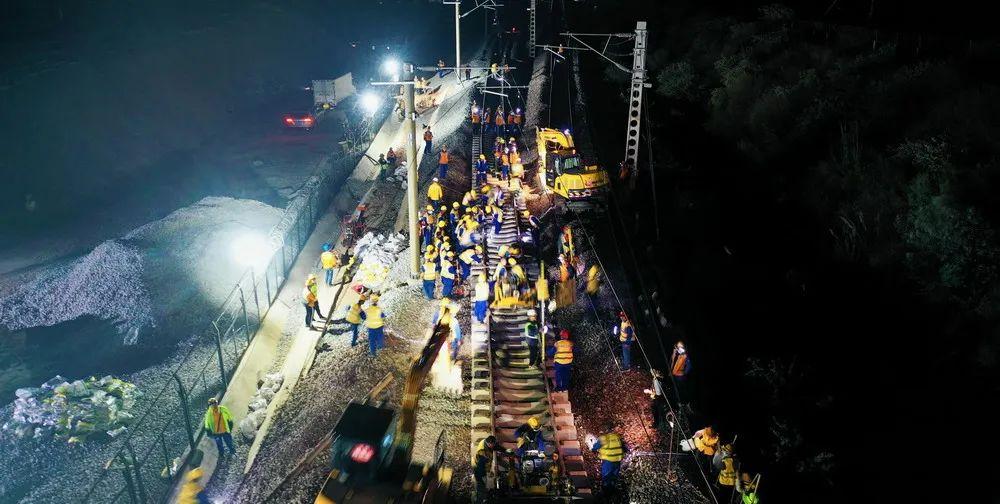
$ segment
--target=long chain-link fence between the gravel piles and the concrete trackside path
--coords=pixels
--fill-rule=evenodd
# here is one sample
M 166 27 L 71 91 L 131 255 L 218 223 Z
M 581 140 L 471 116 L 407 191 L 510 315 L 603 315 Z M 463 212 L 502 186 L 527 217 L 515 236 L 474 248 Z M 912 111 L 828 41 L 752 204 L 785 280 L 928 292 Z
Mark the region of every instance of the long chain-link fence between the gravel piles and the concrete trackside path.
M 383 111 L 383 119 L 387 113 Z M 172 461 L 195 452 L 204 434 L 202 418 L 208 399 L 225 394 L 295 258 L 364 150 L 323 163 L 292 198 L 272 232 L 277 248 L 267 266 L 243 274 L 218 315 L 198 333 L 181 362 L 146 402 L 146 411 L 128 435 L 115 441 L 120 446 L 96 479 L 81 489 L 81 502 L 167 500 L 177 477 L 169 471 Z

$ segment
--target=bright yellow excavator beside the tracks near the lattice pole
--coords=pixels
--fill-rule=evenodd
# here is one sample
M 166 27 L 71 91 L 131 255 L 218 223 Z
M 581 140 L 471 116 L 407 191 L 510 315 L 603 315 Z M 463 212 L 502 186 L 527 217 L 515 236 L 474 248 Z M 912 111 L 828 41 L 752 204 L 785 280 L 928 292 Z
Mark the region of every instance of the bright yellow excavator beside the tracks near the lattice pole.
M 570 201 L 593 199 L 608 187 L 608 173 L 584 165 L 569 130 L 535 128 L 538 177 L 548 189 Z

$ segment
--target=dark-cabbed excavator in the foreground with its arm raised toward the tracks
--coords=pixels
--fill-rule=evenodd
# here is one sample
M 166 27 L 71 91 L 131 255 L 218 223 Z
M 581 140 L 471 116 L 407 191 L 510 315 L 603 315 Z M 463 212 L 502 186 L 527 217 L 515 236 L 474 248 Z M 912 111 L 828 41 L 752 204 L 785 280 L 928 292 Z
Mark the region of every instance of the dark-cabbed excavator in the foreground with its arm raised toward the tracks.
M 410 364 L 398 410 L 351 402 L 333 430 L 331 465 L 316 504 L 448 503 L 452 470 L 444 464 L 444 432 L 433 459 L 414 462 L 417 406 L 427 375 L 451 329 L 437 324 Z

